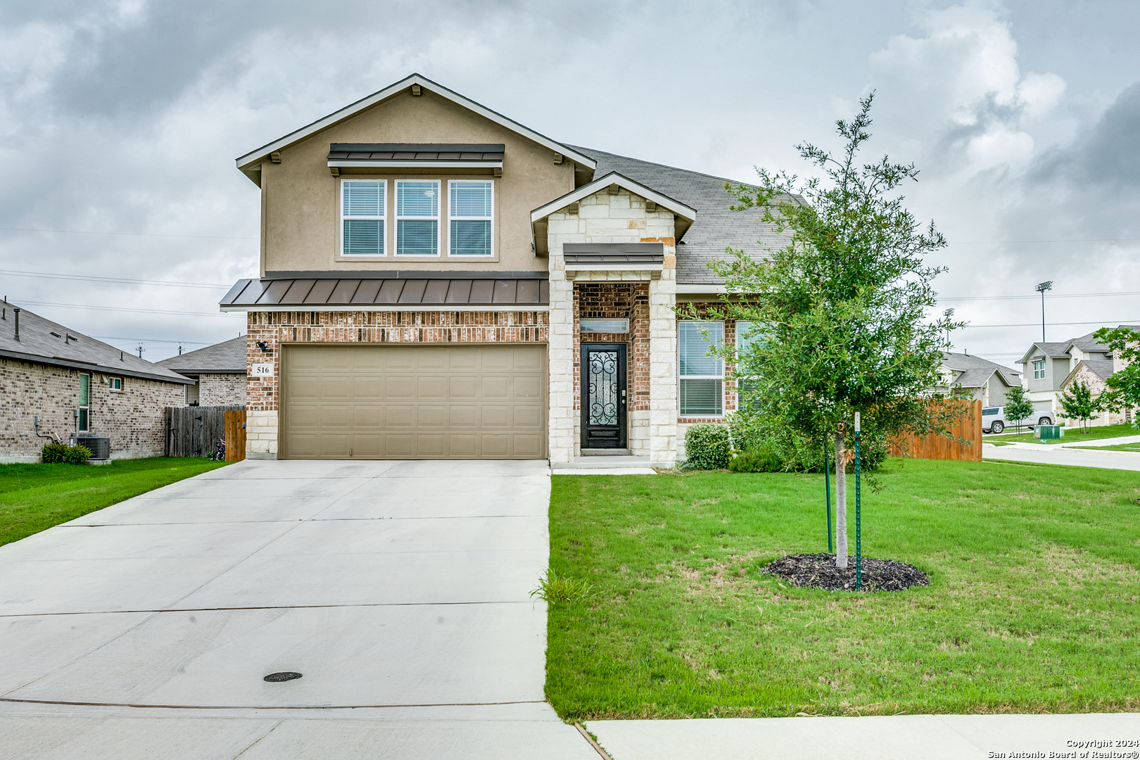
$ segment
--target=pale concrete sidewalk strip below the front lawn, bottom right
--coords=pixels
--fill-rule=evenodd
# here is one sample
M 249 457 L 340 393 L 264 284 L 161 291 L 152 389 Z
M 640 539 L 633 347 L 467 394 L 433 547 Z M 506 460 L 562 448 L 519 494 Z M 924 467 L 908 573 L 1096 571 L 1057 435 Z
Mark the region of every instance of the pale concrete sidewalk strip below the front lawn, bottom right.
M 1140 739 L 1138 713 L 592 720 L 587 728 L 613 760 L 1135 758 L 1140 750 L 1112 744 Z M 1091 739 L 1109 744 L 1074 745 Z

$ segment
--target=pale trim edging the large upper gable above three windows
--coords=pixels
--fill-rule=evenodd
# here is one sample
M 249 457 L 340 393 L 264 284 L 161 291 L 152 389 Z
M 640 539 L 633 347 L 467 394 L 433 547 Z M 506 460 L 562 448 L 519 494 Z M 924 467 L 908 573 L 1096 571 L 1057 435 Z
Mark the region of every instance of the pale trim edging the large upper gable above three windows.
M 372 95 L 361 98 L 356 103 L 344 106 L 340 111 L 335 111 L 328 114 L 327 116 L 318 119 L 317 121 L 310 124 L 306 124 L 301 129 L 294 130 L 288 134 L 285 134 L 284 137 L 280 137 L 274 140 L 272 142 L 268 142 L 255 150 L 251 150 L 244 156 L 239 156 L 238 158 L 235 160 L 237 163 L 237 167 L 242 170 L 242 172 L 244 172 L 246 177 L 250 177 L 251 180 L 256 182 L 258 180 L 253 178 L 253 174 L 260 173 L 260 170 L 256 169 L 255 165 L 260 166 L 261 162 L 264 161 L 267 157 L 269 157 L 270 154 L 276 153 L 282 148 L 285 148 L 295 142 L 300 142 L 301 140 L 308 139 L 314 134 L 316 134 L 317 132 L 320 132 L 324 129 L 327 129 L 347 119 L 350 119 L 356 114 L 360 113 L 361 111 L 370 108 L 372 106 L 375 106 L 378 103 L 386 100 L 392 96 L 399 95 L 400 92 L 414 85 L 423 88 L 424 90 L 429 90 L 430 92 L 433 92 L 434 95 L 438 95 L 442 98 L 446 98 L 451 103 L 455 103 L 462 106 L 463 108 L 466 108 L 467 111 L 477 113 L 480 116 L 483 116 L 484 119 L 488 119 L 495 122 L 496 124 L 499 124 L 500 126 L 505 126 L 508 130 L 518 134 L 521 134 L 528 138 L 529 140 L 532 140 L 534 142 L 537 142 L 542 146 L 549 148 L 554 153 L 561 153 L 571 161 L 575 161 L 591 170 L 593 170 L 597 165 L 596 161 L 594 161 L 584 153 L 580 153 L 555 140 L 552 140 L 545 134 L 540 134 L 539 132 L 536 132 L 532 129 L 523 126 L 519 122 L 507 119 L 503 114 L 491 111 L 490 108 L 480 105 L 474 100 L 465 98 L 458 92 L 454 92 L 453 90 L 449 90 L 446 87 L 438 84 L 425 76 L 422 76 L 420 74 L 412 74 L 410 76 L 402 79 L 399 82 L 396 82 L 394 84 L 385 87 L 383 90 L 373 92 Z

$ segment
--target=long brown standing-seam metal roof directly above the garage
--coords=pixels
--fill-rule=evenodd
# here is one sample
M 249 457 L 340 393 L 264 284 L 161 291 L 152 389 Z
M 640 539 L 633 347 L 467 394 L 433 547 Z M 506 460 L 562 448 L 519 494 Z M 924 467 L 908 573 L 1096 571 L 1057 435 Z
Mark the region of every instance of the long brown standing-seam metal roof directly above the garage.
M 545 279 L 388 277 L 243 279 L 219 307 L 221 311 L 514 311 L 546 309 L 549 302 Z

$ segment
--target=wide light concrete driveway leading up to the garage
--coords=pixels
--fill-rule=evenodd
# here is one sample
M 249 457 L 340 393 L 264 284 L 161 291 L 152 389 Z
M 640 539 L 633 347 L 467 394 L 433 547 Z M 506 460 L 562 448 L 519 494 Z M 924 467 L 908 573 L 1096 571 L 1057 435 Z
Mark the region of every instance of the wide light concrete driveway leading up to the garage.
M 544 702 L 548 500 L 543 461 L 246 461 L 0 547 L 0 757 L 596 760 Z

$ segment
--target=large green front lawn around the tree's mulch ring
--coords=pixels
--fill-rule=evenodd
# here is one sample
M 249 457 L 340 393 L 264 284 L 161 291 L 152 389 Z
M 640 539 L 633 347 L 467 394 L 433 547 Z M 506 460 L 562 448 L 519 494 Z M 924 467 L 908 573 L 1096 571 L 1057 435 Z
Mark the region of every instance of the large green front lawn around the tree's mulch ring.
M 555 476 L 546 693 L 564 718 L 1140 709 L 1135 473 L 888 460 L 863 551 L 929 588 L 763 574 L 826 549 L 812 474 Z M 854 497 L 852 497 L 854 501 Z M 854 508 L 849 510 L 854 549 Z

